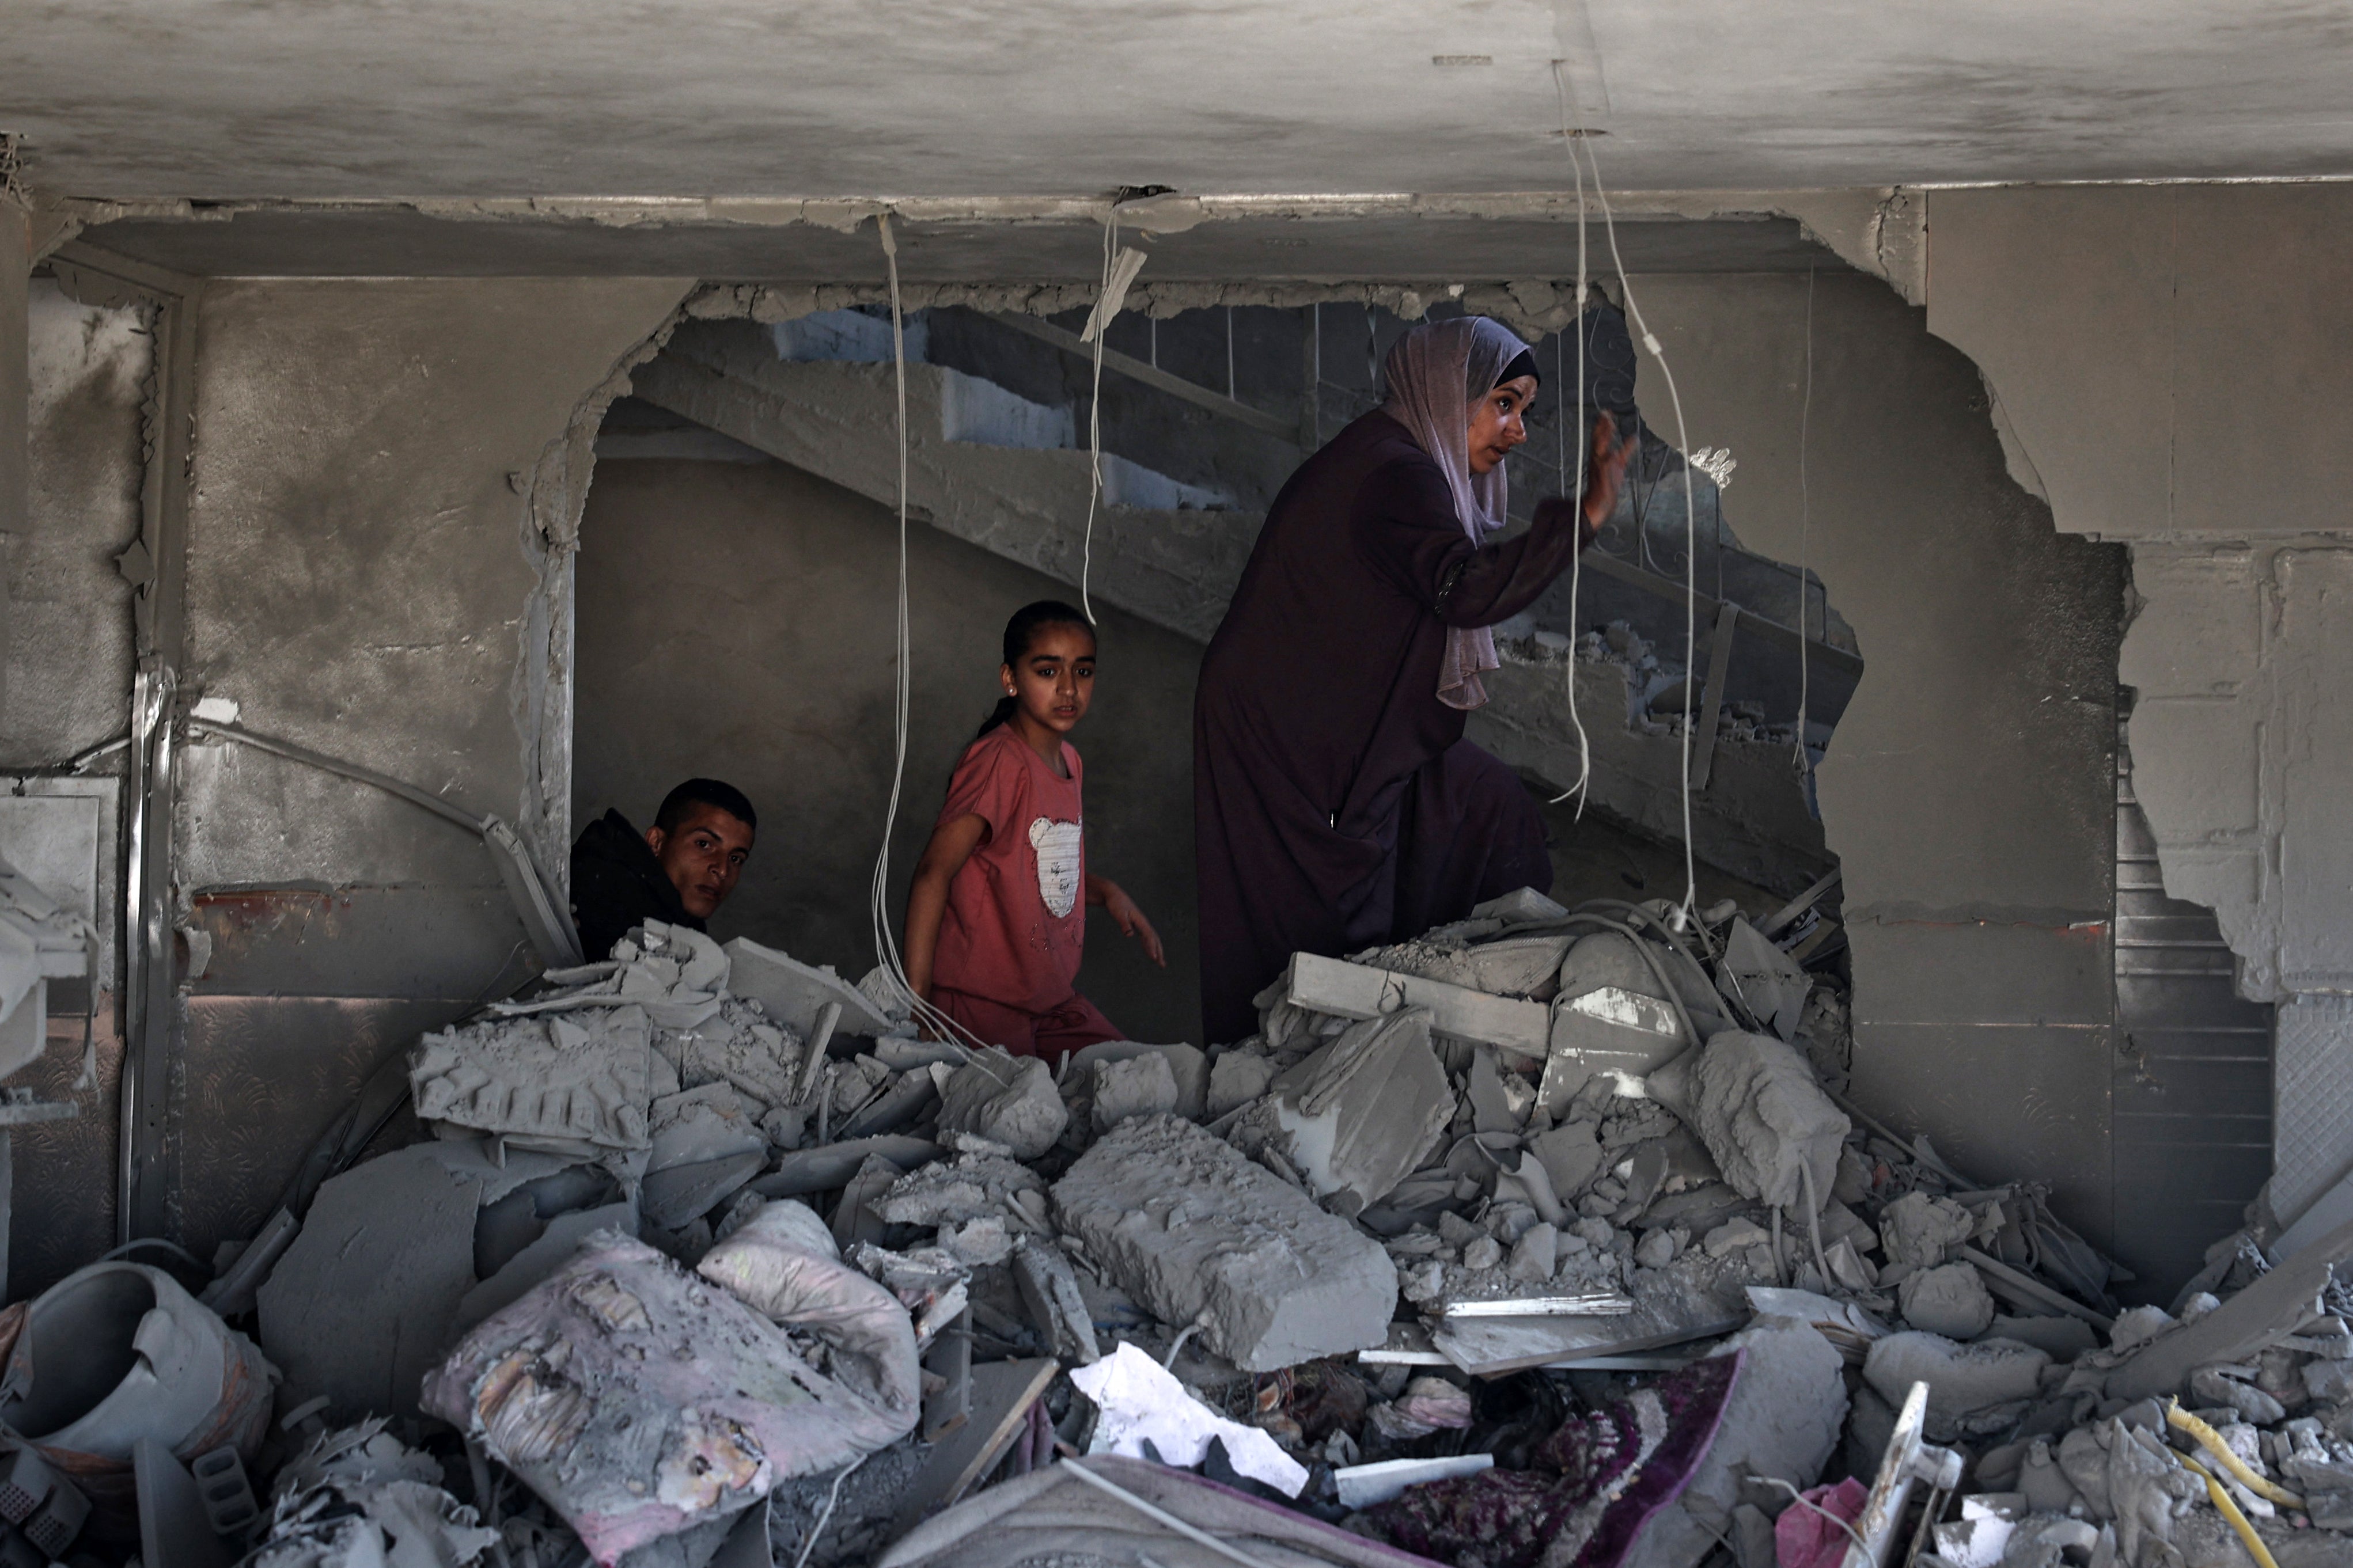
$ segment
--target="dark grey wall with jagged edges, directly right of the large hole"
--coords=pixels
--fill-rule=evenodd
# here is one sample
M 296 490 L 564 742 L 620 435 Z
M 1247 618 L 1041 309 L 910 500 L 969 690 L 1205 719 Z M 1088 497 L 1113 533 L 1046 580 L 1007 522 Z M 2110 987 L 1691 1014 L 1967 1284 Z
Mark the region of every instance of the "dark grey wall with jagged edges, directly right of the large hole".
M 1868 661 L 1817 780 L 1854 943 L 1854 1095 L 1962 1171 L 2054 1182 L 2106 1241 L 2122 552 L 2052 531 L 2005 473 L 1977 369 L 1880 282 L 1635 289 L 1689 444 L 1739 458 L 1741 541 L 1819 571 Z M 1647 357 L 1642 376 L 1671 425 Z

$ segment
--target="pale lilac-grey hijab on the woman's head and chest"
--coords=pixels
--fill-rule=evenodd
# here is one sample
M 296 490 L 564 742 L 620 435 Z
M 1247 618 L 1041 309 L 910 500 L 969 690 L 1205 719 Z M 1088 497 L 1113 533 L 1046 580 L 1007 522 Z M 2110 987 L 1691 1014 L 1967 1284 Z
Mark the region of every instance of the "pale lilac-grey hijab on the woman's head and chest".
M 1471 473 L 1471 404 L 1494 390 L 1504 369 L 1527 353 L 1527 343 L 1501 322 L 1485 315 L 1459 315 L 1424 322 L 1388 350 L 1381 378 L 1391 418 L 1414 433 L 1454 496 L 1454 520 L 1473 545 L 1504 527 L 1508 491 L 1504 465 Z M 1438 701 L 1447 708 L 1478 708 L 1487 701 L 1480 670 L 1494 670 L 1494 632 L 1485 625 L 1447 628 L 1447 651 L 1438 663 Z

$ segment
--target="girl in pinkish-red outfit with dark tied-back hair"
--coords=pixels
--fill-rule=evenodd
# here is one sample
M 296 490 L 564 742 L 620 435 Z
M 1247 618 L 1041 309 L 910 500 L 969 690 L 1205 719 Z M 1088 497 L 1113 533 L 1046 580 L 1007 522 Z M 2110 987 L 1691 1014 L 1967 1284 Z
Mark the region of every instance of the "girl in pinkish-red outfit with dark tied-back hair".
M 1087 872 L 1082 769 L 1064 736 L 1094 698 L 1094 630 L 1056 599 L 1005 623 L 1005 701 L 965 748 L 906 898 L 915 994 L 1014 1056 L 1127 1039 L 1078 994 L 1087 907 L 1104 905 L 1167 966 L 1160 933 L 1106 877 Z

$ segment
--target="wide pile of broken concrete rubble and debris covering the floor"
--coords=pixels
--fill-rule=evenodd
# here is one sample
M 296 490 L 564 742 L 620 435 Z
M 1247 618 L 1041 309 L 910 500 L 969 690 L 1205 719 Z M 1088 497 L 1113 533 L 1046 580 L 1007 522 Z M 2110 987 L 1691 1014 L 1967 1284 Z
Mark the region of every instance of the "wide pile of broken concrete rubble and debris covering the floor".
M 2120 1312 L 1842 1098 L 1817 931 L 1520 891 L 1042 1063 L 649 924 L 424 1039 L 254 1338 L 0 1316 L 0 1563 L 2353 1561 L 2353 1225 Z

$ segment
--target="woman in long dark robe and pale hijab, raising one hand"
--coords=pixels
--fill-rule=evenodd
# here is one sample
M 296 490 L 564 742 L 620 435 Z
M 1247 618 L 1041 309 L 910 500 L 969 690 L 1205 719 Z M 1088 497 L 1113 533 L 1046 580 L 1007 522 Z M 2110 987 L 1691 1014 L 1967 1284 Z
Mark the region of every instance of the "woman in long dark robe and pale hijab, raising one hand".
M 1527 788 L 1464 741 L 1487 628 L 1560 576 L 1617 505 L 1631 442 L 1595 418 L 1584 505 L 1504 527 L 1504 456 L 1537 397 L 1487 317 L 1414 327 L 1386 402 L 1275 496 L 1193 698 L 1202 1025 L 1257 1030 L 1292 952 L 1344 954 L 1461 919 L 1553 865 Z

